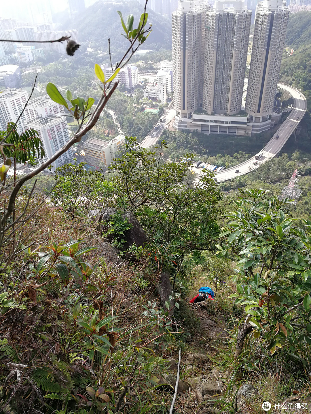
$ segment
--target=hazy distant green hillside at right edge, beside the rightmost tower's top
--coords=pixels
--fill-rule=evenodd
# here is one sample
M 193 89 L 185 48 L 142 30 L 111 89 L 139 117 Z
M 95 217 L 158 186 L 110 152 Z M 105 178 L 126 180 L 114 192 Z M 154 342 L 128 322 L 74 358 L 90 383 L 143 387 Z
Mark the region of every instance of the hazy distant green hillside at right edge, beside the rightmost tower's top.
M 311 12 L 289 14 L 285 44 L 299 48 L 311 43 Z

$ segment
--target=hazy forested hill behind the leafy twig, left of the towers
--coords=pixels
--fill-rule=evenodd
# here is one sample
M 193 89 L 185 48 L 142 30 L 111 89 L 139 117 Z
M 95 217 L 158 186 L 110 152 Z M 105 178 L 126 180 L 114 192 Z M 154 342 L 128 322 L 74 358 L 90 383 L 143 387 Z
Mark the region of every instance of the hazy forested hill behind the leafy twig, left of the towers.
M 143 6 L 138 1 L 98 1 L 87 7 L 83 15 L 77 16 L 73 21 L 67 22 L 66 26 L 78 29 L 79 41 L 86 46 L 96 50 L 107 52 L 107 39 L 111 39 L 111 51 L 118 55 L 128 46 L 128 41 L 121 36 L 122 27 L 117 10 L 120 10 L 126 21 L 128 14 L 134 14 L 134 26 L 138 25 L 138 19 L 143 13 Z M 172 29 L 168 17 L 161 16 L 150 9 L 148 10 L 148 22 L 152 24 L 152 32 L 143 49 L 172 48 Z

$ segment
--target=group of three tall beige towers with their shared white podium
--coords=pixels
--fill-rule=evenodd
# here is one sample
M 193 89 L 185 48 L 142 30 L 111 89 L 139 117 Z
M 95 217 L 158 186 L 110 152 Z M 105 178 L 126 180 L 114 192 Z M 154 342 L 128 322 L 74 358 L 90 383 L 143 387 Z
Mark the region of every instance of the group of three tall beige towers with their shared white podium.
M 278 121 L 272 109 L 289 17 L 282 0 L 258 2 L 245 102 L 247 114 L 231 119 L 242 108 L 251 16 L 243 0 L 230 4 L 217 1 L 212 8 L 204 0 L 181 1 L 173 12 L 173 105 L 177 130 L 248 135 L 268 130 L 271 123 Z M 207 127 L 207 123 L 213 125 Z

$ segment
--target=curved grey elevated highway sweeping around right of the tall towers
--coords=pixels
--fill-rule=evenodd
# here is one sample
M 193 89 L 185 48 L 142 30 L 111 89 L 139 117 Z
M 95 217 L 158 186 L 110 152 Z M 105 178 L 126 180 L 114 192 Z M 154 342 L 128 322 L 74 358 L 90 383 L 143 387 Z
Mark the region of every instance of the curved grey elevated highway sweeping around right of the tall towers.
M 281 83 L 279 83 L 278 86 L 288 91 L 291 94 L 292 98 L 294 98 L 294 107 L 291 113 L 286 118 L 286 120 L 284 120 L 282 125 L 280 125 L 279 129 L 277 130 L 277 132 L 275 132 L 275 134 L 264 147 L 264 149 L 262 149 L 260 152 L 258 152 L 258 154 L 256 154 L 259 155 L 263 153 L 262 158 L 258 160 L 258 164 L 253 165 L 253 162 L 255 161 L 255 156 L 253 156 L 252 158 L 242 162 L 241 164 L 228 168 L 219 173 L 215 173 L 215 178 L 217 179 L 217 182 L 231 180 L 231 178 L 247 174 L 250 171 L 253 171 L 255 168 L 258 168 L 260 164 L 263 164 L 264 162 L 267 162 L 271 158 L 275 157 L 280 152 L 285 142 L 292 135 L 295 128 L 298 126 L 299 122 L 306 113 L 306 97 L 303 94 L 301 94 L 301 92 L 299 92 L 297 89 L 291 86 L 287 86 Z M 277 135 L 279 135 L 279 138 L 276 140 L 275 137 Z M 235 173 L 234 171 L 236 170 L 240 170 L 240 172 Z

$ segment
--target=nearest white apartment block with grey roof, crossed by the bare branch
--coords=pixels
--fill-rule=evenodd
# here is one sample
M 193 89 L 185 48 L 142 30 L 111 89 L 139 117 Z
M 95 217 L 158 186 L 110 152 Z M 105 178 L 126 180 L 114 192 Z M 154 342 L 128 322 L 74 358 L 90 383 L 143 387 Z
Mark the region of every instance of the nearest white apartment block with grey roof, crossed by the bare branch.
M 33 128 L 39 134 L 39 138 L 43 143 L 45 151 L 44 160 L 50 158 L 55 154 L 65 142 L 68 142 L 69 132 L 66 119 L 63 116 L 47 115 L 44 118 L 37 116 L 26 123 L 27 128 Z M 61 167 L 64 164 L 68 164 L 73 160 L 72 149 L 69 148 L 64 154 L 58 157 L 52 165 L 52 169 Z M 42 160 L 39 159 L 39 162 Z

